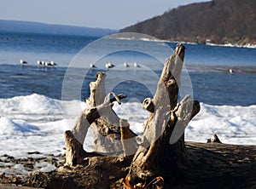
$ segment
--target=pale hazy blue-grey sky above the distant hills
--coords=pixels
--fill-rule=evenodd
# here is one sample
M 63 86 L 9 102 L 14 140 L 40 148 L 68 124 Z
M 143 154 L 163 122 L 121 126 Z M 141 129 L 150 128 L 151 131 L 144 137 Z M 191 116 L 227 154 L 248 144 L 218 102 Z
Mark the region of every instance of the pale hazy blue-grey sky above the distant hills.
M 121 29 L 203 1 L 207 0 L 0 0 L 0 20 Z

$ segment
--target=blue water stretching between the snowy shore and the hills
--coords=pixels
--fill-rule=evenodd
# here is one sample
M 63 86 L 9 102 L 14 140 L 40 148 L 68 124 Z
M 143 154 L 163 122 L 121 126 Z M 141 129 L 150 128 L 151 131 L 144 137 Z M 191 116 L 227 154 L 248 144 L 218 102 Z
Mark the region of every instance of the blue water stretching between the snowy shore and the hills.
M 176 43 L 106 39 L 100 45 L 82 50 L 96 39 L 0 33 L 0 98 L 37 93 L 55 99 L 84 100 L 90 95 L 89 83 L 96 80 L 98 71 L 107 72 L 106 78 L 111 78 L 108 82 L 114 83 L 112 90 L 126 94 L 125 101 L 152 97 L 157 83 L 155 77 L 160 76 L 162 63 L 172 54 L 168 48 L 174 49 Z M 184 45 L 187 48 L 184 64 L 189 70 L 194 99 L 212 105 L 256 104 L 256 49 Z M 28 65 L 20 66 L 20 59 Z M 37 66 L 37 60 L 54 60 L 58 66 Z M 115 65 L 115 70 L 105 68 L 108 61 Z M 130 69 L 122 66 L 124 61 Z M 142 67 L 133 67 L 135 61 Z M 95 63 L 97 68 L 90 69 L 90 63 Z M 72 68 L 73 74 L 67 74 L 70 66 L 77 66 Z M 230 69 L 236 74 L 230 74 Z M 70 85 L 61 95 L 64 77 Z M 75 91 L 77 83 L 82 84 L 79 92 Z M 73 93 L 80 96 L 73 97 Z

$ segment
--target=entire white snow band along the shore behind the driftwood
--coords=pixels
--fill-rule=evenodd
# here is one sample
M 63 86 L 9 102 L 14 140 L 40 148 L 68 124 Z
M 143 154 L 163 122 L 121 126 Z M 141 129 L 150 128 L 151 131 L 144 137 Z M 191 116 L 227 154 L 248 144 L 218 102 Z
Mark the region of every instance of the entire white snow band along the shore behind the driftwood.
M 72 129 L 85 107 L 78 100 L 50 99 L 44 95 L 31 94 L 10 99 L 0 99 L 0 155 L 27 157 L 27 152 L 62 153 L 65 146 L 64 131 Z M 62 106 L 68 111 L 63 113 Z M 67 108 L 68 107 L 68 108 Z M 115 104 L 113 109 L 119 117 L 129 120 L 137 134 L 143 130 L 148 112 L 138 102 Z M 256 105 L 212 106 L 201 103 L 201 112 L 189 123 L 185 140 L 206 142 L 213 133 L 224 143 L 256 145 Z M 67 120 L 71 122 L 67 122 Z M 87 136 L 92 140 L 91 136 Z M 85 141 L 85 149 L 90 142 Z

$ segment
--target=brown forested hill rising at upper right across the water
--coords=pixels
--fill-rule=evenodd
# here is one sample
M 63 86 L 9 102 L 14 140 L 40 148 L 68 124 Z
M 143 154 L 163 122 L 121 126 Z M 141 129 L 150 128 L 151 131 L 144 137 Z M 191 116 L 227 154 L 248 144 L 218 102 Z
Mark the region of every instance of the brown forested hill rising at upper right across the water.
M 192 3 L 121 31 L 172 41 L 256 44 L 256 0 Z

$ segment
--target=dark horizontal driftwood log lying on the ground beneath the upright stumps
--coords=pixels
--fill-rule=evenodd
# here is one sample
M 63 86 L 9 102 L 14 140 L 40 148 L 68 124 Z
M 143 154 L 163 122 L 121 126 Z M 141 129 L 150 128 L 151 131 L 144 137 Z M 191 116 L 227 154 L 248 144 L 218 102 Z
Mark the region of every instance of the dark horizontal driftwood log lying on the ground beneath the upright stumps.
M 255 148 L 256 146 L 186 142 L 186 151 L 193 158 L 193 162 L 186 169 L 177 170 L 176 175 L 164 176 L 163 188 L 256 188 Z M 50 189 L 123 188 L 121 178 L 125 178 L 131 160 L 125 158 L 125 161 L 120 162 L 119 159 L 94 157 L 83 166 L 64 166 L 49 173 L 32 173 L 27 183 L 24 179 L 17 182 L 17 178 L 10 181 L 10 178 L 4 176 L 0 176 L 0 182 L 13 183 L 11 187 L 19 184 Z M 17 160 L 13 161 L 15 163 Z

